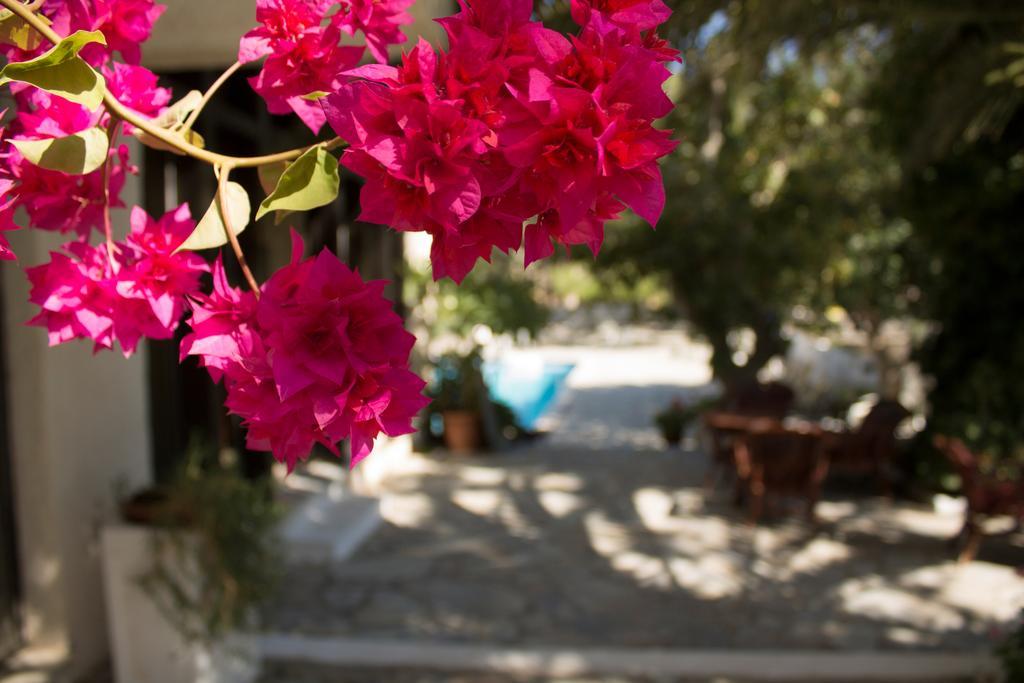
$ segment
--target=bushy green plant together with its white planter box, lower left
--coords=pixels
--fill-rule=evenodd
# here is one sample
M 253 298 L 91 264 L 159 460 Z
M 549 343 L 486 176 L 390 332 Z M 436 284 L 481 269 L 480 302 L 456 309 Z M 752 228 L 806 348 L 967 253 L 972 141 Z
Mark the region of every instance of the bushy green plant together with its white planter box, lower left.
M 267 483 L 189 458 L 169 484 L 125 501 L 122 516 L 103 533 L 117 680 L 255 680 L 260 657 L 247 634 L 280 564 Z

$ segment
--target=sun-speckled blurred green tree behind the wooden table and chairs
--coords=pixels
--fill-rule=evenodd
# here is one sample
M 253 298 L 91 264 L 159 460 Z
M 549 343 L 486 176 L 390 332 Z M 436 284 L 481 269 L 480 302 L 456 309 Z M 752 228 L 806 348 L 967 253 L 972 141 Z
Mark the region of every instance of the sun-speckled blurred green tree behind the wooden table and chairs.
M 905 233 L 883 204 L 898 167 L 870 143 L 863 105 L 882 39 L 864 28 L 746 52 L 743 26 L 699 31 L 677 77 L 685 105 L 669 125 L 683 142 L 664 169 L 660 229 L 627 221 L 601 260 L 617 278 L 667 272 L 727 384 L 784 351 L 795 305 L 823 311 L 842 293 L 873 334 L 903 286 L 899 259 L 886 266 L 893 289 L 876 286 L 878 249 Z

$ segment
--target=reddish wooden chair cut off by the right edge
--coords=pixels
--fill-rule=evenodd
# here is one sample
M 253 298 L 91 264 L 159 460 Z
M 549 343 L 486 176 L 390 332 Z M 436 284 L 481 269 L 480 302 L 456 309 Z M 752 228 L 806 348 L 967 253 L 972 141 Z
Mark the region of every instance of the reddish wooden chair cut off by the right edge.
M 1024 481 L 1005 481 L 981 472 L 978 457 L 958 438 L 937 435 L 933 441 L 949 459 L 961 477 L 961 486 L 967 499 L 964 526 L 953 538 L 961 545 L 957 561 L 970 562 L 978 555 L 985 536 L 984 519 L 994 515 L 1009 515 L 1024 521 Z

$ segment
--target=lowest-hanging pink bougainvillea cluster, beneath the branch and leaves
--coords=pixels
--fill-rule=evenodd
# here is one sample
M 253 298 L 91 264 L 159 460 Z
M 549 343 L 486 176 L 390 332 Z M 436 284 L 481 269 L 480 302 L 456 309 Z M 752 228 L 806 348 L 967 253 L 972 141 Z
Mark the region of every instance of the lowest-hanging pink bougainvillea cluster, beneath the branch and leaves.
M 301 258 L 293 232 L 291 263 L 258 299 L 229 287 L 218 261 L 213 293 L 196 297 L 181 355 L 224 380 L 248 447 L 291 470 L 315 443 L 337 455 L 336 442 L 350 438 L 355 465 L 381 432 L 412 432 L 427 402 L 409 371 L 415 338 L 384 299 L 384 283 L 364 283 L 326 250 Z

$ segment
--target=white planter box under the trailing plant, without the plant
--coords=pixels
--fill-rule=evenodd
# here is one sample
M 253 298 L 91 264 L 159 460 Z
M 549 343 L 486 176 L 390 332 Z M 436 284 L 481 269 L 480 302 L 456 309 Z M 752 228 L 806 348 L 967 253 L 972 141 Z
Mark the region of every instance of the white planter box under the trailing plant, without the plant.
M 187 643 L 139 586 L 153 566 L 154 530 L 103 529 L 103 583 L 117 683 L 252 683 L 258 640 L 238 634 L 214 646 Z

